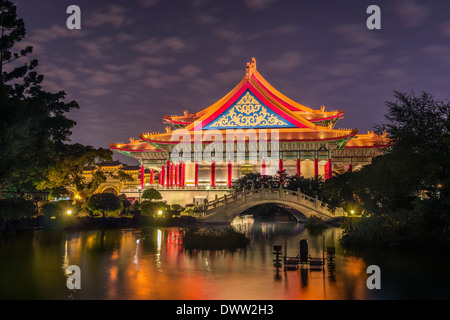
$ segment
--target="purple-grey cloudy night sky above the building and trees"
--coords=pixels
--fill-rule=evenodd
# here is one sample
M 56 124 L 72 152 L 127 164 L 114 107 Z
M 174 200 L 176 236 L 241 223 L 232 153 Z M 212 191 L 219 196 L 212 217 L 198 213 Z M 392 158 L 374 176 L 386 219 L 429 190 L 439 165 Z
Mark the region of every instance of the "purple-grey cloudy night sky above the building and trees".
M 80 109 L 72 142 L 107 148 L 222 98 L 256 58 L 276 89 L 373 130 L 393 90 L 450 99 L 448 0 L 19 0 L 45 88 Z M 369 5 L 381 30 L 369 30 Z M 68 30 L 69 5 L 81 30 Z M 22 60 L 24 62 L 24 60 Z M 133 159 L 115 154 L 129 164 Z M 128 159 L 128 160 L 126 160 Z

